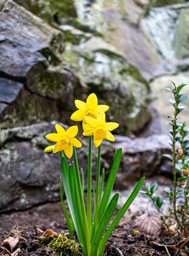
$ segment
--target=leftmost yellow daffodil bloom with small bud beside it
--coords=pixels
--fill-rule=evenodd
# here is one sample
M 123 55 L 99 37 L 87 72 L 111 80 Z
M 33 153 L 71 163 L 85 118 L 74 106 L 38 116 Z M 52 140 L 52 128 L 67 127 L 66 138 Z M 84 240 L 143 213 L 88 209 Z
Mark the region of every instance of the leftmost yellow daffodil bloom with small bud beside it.
M 47 134 L 45 137 L 50 141 L 56 142 L 56 144 L 46 147 L 45 152 L 52 151 L 53 153 L 56 153 L 63 150 L 65 155 L 68 158 L 71 158 L 73 154 L 73 146 L 77 148 L 82 147 L 82 143 L 75 138 L 78 134 L 78 126 L 71 126 L 67 131 L 65 131 L 59 124 L 56 124 L 55 128 L 57 133 Z

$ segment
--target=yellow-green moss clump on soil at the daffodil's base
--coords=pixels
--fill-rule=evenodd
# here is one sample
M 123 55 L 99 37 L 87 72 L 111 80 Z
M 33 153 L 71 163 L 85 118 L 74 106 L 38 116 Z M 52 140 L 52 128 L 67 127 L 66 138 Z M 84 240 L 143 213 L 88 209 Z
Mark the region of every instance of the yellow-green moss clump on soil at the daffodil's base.
M 70 240 L 66 237 L 64 232 L 58 235 L 52 235 L 53 240 L 48 244 L 54 252 L 59 256 L 82 256 L 78 245 L 74 240 Z

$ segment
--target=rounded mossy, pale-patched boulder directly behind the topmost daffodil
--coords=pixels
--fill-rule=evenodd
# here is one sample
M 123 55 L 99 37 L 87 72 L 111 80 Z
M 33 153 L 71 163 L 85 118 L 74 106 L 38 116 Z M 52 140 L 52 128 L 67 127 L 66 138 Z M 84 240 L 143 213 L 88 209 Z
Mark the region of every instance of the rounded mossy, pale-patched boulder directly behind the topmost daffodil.
M 119 122 L 119 134 L 139 132 L 149 122 L 148 83 L 112 45 L 93 37 L 72 46 L 63 57 L 83 87 L 80 99 L 85 101 L 87 93 L 95 91 L 100 104 L 110 106 L 108 119 Z

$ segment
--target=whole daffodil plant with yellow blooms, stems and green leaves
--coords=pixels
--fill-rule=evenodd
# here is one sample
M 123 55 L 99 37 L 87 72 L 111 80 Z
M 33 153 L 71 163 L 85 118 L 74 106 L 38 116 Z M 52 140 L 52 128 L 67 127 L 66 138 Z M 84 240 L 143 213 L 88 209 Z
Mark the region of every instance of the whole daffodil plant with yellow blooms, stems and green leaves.
M 46 135 L 47 139 L 56 142 L 56 144 L 46 147 L 44 152 L 56 153 L 59 151 L 61 154 L 60 195 L 70 237 L 73 237 L 73 232 L 76 230 L 82 252 L 86 256 L 103 256 L 109 236 L 137 196 L 145 178 L 143 177 L 137 183 L 128 200 L 111 222 L 119 198 L 119 193 L 116 193 L 111 198 L 111 192 L 119 169 L 122 149 L 118 149 L 115 152 L 106 185 L 104 184 L 104 169 L 101 171 L 100 168 L 100 153 L 101 143 L 104 139 L 115 141 L 115 137 L 111 134 L 111 131 L 116 129 L 119 124 L 116 122 L 106 122 L 105 112 L 109 109 L 109 106 L 98 105 L 98 99 L 94 93 L 88 96 L 86 102 L 75 100 L 75 105 L 78 110 L 70 118 L 74 121 L 82 121 L 83 136 L 89 136 L 86 209 L 83 197 L 85 188 L 84 175 L 82 169 L 79 169 L 76 154 L 76 148 L 82 147 L 82 143 L 76 139 L 78 126 L 71 126 L 65 131 L 63 127 L 56 124 L 57 133 Z M 96 182 L 92 196 L 93 140 L 96 148 L 98 148 L 98 157 Z M 71 158 L 72 155 L 73 162 L 72 164 L 68 164 L 66 157 Z M 63 190 L 69 211 L 65 207 Z

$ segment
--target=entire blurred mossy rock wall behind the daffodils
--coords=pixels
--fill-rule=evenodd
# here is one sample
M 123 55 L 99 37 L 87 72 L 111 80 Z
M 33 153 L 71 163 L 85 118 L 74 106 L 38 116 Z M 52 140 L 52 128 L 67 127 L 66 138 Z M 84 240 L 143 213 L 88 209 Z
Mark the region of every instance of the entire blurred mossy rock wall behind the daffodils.
M 123 147 L 116 188 L 170 177 L 165 88 L 189 85 L 188 70 L 189 1 L 0 0 L 0 212 L 59 201 L 59 155 L 43 153 L 44 135 L 54 120 L 75 124 L 74 99 L 91 92 L 120 124 L 102 152 L 108 174 Z

